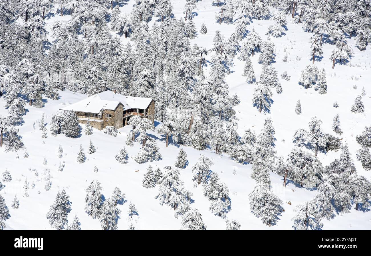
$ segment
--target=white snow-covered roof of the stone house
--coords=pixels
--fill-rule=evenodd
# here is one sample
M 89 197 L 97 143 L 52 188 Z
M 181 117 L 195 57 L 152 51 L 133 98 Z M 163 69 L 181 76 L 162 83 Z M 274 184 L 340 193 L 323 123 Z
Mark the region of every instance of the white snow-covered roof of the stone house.
M 151 98 L 131 97 L 114 93 L 112 91 L 105 91 L 70 104 L 60 110 L 99 113 L 102 109 L 115 110 L 120 103 L 124 106 L 124 110 L 147 109 L 151 101 Z

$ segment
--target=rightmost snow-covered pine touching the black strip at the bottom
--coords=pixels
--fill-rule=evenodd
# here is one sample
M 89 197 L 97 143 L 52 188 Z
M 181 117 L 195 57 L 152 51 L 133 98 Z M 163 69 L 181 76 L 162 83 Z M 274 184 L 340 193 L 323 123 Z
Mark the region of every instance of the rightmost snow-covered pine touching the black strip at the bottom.
M 317 206 L 312 202 L 297 205 L 294 211 L 297 212 L 292 219 L 294 230 L 319 230 L 323 226 Z

